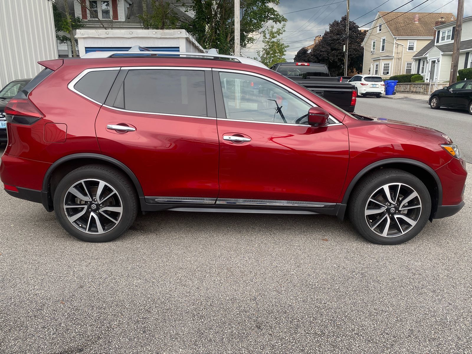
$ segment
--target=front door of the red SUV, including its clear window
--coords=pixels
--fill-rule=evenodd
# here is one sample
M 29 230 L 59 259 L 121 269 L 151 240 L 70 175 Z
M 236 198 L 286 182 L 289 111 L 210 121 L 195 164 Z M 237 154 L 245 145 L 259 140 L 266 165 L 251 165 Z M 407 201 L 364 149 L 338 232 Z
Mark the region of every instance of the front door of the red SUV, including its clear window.
M 348 164 L 346 126 L 334 119 L 328 126 L 309 126 L 306 114 L 315 105 L 270 78 L 215 69 L 213 77 L 217 203 L 337 202 Z

